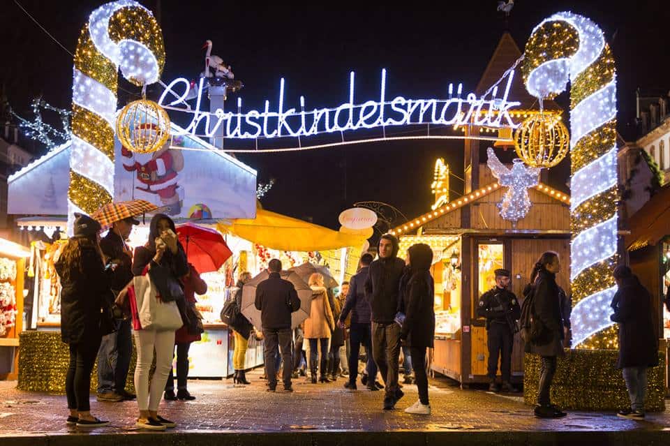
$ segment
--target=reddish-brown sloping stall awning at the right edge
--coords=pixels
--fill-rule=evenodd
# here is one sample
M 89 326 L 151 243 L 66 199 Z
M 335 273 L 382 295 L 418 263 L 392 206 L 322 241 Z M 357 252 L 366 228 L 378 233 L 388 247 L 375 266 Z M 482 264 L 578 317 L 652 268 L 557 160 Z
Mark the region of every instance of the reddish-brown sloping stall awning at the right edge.
M 670 186 L 665 186 L 628 219 L 626 235 L 629 251 L 657 244 L 670 235 Z

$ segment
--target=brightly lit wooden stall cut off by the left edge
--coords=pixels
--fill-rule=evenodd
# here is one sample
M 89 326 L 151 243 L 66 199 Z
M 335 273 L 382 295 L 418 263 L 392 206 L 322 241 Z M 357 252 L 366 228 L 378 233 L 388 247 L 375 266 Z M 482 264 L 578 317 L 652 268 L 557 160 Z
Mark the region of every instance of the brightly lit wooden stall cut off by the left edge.
M 0 239 L 0 380 L 15 380 L 23 331 L 24 246 Z

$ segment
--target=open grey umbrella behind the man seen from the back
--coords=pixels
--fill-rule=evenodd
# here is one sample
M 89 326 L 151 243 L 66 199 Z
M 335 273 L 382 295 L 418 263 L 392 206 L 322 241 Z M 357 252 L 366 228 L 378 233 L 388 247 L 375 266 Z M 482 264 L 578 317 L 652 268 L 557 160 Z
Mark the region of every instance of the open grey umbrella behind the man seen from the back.
M 259 283 L 267 280 L 267 278 L 269 278 L 269 274 L 267 273 L 267 270 L 264 270 L 262 273 L 258 274 L 258 276 L 252 278 L 251 281 L 245 283 L 244 287 L 242 287 L 241 312 L 257 329 L 262 328 L 262 323 L 260 321 L 260 310 L 257 310 L 255 306 L 256 288 Z M 298 293 L 298 299 L 300 299 L 300 309 L 291 314 L 291 328 L 295 328 L 309 317 L 309 310 L 312 303 L 312 289 L 309 288 L 307 283 L 295 274 L 295 272 L 282 271 L 281 278 L 293 284 Z

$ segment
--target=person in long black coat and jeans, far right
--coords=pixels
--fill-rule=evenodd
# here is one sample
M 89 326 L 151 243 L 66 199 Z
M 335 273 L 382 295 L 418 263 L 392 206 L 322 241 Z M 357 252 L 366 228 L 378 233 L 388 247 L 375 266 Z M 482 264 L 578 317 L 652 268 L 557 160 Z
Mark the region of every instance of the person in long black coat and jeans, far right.
M 644 418 L 644 395 L 647 388 L 647 368 L 658 365 L 658 336 L 652 323 L 651 295 L 634 276 L 629 267 L 614 269 L 618 290 L 612 299 L 613 322 L 619 324 L 619 358 L 617 368 L 623 369 L 630 396 L 631 408 L 618 416 Z

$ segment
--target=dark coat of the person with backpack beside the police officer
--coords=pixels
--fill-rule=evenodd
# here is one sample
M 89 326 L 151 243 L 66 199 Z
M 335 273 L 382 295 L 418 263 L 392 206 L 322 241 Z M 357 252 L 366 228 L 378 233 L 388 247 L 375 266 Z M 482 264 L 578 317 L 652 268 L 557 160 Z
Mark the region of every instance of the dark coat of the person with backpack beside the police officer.
M 556 274 L 541 269 L 533 284 L 535 308 L 533 317 L 542 325 L 539 339 L 526 343 L 526 352 L 540 356 L 563 356 L 563 312 L 561 311 L 560 288 Z

